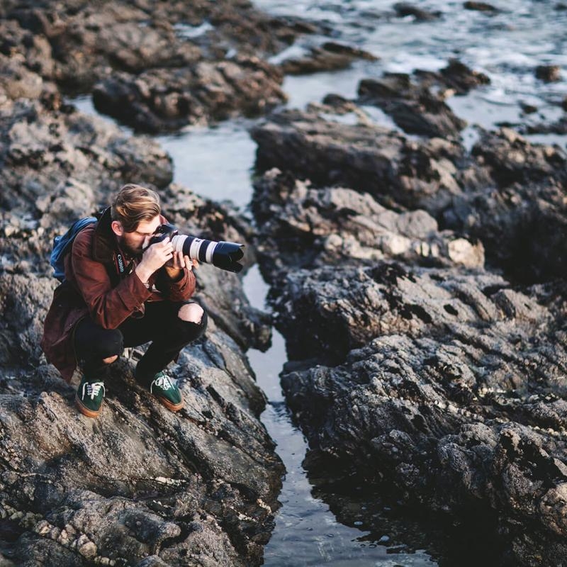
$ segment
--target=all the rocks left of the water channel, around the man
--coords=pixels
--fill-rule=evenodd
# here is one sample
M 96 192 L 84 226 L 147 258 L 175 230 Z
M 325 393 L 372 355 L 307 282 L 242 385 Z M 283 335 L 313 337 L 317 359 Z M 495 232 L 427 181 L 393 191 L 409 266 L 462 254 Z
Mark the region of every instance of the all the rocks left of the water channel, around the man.
M 198 297 L 210 323 L 172 368 L 186 399 L 177 415 L 135 386 L 134 353 L 113 365 L 101 416 L 88 420 L 74 409 L 76 384 L 64 383 L 39 347 L 57 283 L 52 238 L 125 182 L 159 190 L 186 233 L 251 241 L 247 220 L 172 183 L 171 158 L 157 143 L 64 102 L 92 91 L 123 123 L 164 130 L 281 101 L 281 72 L 252 52 L 293 41 L 295 24 L 242 2 L 197 4 L 190 21 L 181 2 L 0 10 L 3 565 L 262 562 L 284 469 L 259 422 L 265 396 L 245 354 L 268 346 L 270 320 L 249 305 L 237 276 L 201 266 Z M 214 33 L 184 38 L 206 22 Z M 182 99 L 175 77 L 194 100 Z

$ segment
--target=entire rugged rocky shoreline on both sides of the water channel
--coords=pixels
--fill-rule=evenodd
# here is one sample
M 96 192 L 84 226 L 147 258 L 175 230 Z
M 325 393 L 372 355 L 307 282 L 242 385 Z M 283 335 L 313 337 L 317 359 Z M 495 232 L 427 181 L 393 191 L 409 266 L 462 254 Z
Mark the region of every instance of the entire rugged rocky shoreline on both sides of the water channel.
M 133 180 L 157 188 L 185 232 L 245 242 L 257 258 L 315 484 L 348 486 L 354 471 L 369 498 L 393 490 L 456 534 L 482 534 L 487 564 L 564 563 L 565 151 L 511 128 L 479 130 L 465 147 L 447 100 L 490 79 L 457 60 L 371 77 L 352 100 L 330 93 L 253 128 L 253 227 L 172 183 L 167 153 L 137 134 L 259 116 L 285 100 L 284 73 L 373 56 L 329 42 L 270 63 L 317 23 L 240 0 L 191 6 L 0 7 L 2 564 L 262 563 L 284 470 L 246 351 L 268 346 L 271 317 L 237 276 L 198 272 L 210 325 L 173 369 L 181 415 L 137 390 L 125 358 L 101 417 L 86 420 L 40 352 L 52 237 Z M 137 134 L 65 102 L 80 93 Z M 369 108 L 395 126 L 376 125 Z M 330 491 L 348 518 L 348 498 Z M 369 531 L 373 502 L 361 512 Z M 442 564 L 443 545 L 434 551 Z

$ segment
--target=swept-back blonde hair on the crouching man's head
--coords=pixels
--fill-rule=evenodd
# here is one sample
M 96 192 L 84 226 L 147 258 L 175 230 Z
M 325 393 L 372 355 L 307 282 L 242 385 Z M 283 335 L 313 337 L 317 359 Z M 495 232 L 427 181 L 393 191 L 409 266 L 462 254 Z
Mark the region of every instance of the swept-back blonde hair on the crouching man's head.
M 111 206 L 112 220 L 118 220 L 126 232 L 134 232 L 142 220 L 152 220 L 161 212 L 159 195 L 133 183 L 118 191 Z

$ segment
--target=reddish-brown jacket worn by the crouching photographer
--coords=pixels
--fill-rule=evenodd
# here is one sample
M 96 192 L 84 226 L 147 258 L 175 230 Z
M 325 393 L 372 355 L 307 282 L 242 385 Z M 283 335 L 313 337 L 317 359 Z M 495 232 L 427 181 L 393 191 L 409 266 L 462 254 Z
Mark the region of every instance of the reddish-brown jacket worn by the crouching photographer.
M 72 335 L 79 320 L 90 316 L 101 327 L 116 329 L 135 311 L 143 311 L 147 301 L 185 301 L 195 291 L 195 276 L 188 269 L 178 281 L 158 270 L 146 287 L 133 271 L 135 262 L 128 265 L 118 248 L 110 208 L 98 223 L 79 232 L 64 264 L 65 281 L 53 293 L 41 347 L 67 382 L 77 367 Z

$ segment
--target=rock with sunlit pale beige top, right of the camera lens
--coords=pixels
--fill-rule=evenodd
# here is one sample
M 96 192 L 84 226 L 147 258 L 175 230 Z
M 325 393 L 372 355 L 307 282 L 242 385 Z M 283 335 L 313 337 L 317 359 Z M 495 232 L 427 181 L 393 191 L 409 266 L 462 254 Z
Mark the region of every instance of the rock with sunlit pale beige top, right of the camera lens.
M 385 258 L 425 265 L 483 265 L 480 243 L 441 232 L 425 210 L 395 213 L 368 193 L 314 189 L 278 169 L 254 184 L 262 270 L 271 281 L 288 266 L 322 267 Z

